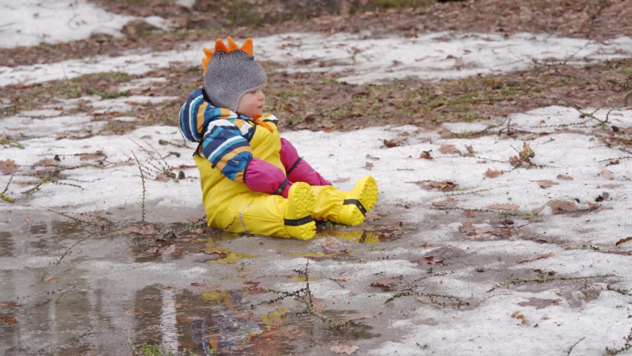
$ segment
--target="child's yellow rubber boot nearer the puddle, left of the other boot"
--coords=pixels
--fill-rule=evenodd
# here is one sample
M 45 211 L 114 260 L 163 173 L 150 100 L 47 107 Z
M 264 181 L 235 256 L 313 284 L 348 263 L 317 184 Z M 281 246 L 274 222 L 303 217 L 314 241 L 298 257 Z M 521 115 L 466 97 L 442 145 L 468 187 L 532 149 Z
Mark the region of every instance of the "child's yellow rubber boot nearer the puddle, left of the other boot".
M 285 230 L 289 237 L 308 240 L 316 235 L 316 222 L 312 219 L 315 204 L 312 187 L 305 182 L 292 184 L 288 203 L 283 212 Z

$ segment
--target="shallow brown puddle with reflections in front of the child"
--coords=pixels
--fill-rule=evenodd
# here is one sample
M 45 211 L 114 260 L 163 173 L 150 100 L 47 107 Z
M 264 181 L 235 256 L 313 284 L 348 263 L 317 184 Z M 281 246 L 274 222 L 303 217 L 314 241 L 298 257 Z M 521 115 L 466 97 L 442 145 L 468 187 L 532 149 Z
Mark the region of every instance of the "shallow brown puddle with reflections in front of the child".
M 329 352 L 336 341 L 380 335 L 362 323 L 335 329 L 311 315 L 297 315 L 304 306 L 291 299 L 251 307 L 252 296 L 268 293 L 259 281 L 222 288 L 240 281 L 234 277 L 245 279 L 252 274 L 243 261 L 258 255 L 241 252 L 247 251 L 245 244 L 254 244 L 252 237 L 222 232 L 205 236 L 204 231 L 185 227 L 170 224 L 155 226 L 153 232 L 86 238 L 92 229 L 83 224 L 44 222 L 28 226 L 23 233 L 0 232 L 0 257 L 8 258 L 0 262 L 0 338 L 6 341 L 0 345 L 0 354 L 130 355 L 130 342 L 151 343 L 174 354 L 185 349 L 196 355 L 210 354 L 212 349 L 217 355 L 321 354 Z M 166 229 L 181 232 L 174 241 L 167 241 L 168 236 L 161 233 Z M 109 233 L 96 230 L 88 235 Z M 358 234 L 358 243 L 362 235 L 366 233 Z M 226 248 L 230 243 L 234 250 Z M 210 254 L 220 255 L 212 262 L 234 264 L 223 268 L 236 273 L 218 272 L 209 281 L 200 277 L 200 283 L 191 286 L 187 281 L 186 288 L 147 283 L 142 280 L 147 277 L 140 276 L 133 282 L 137 266 L 174 262 L 195 266 L 211 262 L 205 258 Z M 90 270 L 86 268 L 94 267 L 87 261 L 112 267 Z M 222 268 L 221 264 L 217 267 Z M 221 281 L 226 276 L 233 279 Z M 290 278 L 305 282 L 305 277 Z M 171 279 L 178 282 L 178 277 Z M 315 279 L 310 277 L 310 281 Z M 321 312 L 329 317 L 344 314 Z

